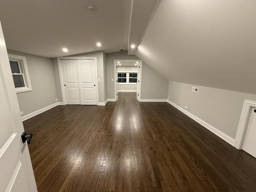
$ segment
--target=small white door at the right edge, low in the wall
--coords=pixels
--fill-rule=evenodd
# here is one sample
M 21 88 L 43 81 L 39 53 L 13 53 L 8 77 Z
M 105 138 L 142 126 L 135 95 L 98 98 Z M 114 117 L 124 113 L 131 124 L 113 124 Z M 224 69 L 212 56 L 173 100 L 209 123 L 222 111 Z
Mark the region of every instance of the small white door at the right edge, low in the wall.
M 252 108 L 242 149 L 256 158 L 256 108 Z

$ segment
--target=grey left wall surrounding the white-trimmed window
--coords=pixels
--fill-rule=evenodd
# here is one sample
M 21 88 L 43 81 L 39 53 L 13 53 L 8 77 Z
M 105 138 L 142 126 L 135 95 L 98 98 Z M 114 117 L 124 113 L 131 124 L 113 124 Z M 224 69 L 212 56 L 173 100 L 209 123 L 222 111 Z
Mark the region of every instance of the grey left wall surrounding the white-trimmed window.
M 56 103 L 57 98 L 54 68 L 50 58 L 7 50 L 8 54 L 25 56 L 32 91 L 17 93 L 20 111 L 25 116 Z

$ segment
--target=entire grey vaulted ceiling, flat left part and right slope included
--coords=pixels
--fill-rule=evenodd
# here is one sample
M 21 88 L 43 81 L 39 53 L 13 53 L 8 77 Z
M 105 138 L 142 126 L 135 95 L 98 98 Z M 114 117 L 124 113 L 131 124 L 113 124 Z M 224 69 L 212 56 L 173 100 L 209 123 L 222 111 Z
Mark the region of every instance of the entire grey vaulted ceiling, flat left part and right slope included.
M 253 0 L 0 0 L 0 20 L 10 50 L 124 49 L 168 80 L 256 94 Z

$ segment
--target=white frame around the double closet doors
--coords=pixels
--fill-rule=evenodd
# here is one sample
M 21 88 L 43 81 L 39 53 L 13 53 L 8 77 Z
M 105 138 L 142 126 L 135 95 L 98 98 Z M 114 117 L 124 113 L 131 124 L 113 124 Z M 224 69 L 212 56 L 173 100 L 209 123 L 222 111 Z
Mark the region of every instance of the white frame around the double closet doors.
M 63 105 L 66 105 L 66 96 L 64 92 L 64 81 L 63 81 L 63 76 L 62 76 L 62 69 L 61 69 L 61 63 L 60 60 L 84 60 L 84 59 L 91 59 L 95 60 L 95 84 L 97 86 L 96 88 L 96 103 L 99 105 L 99 86 L 98 86 L 98 64 L 97 64 L 97 57 L 58 57 L 58 69 L 59 69 L 59 76 L 60 76 L 60 89 L 61 89 L 61 95 L 62 95 L 62 103 Z M 79 82 L 78 82 L 79 84 Z M 80 90 L 79 91 L 79 98 L 80 98 Z

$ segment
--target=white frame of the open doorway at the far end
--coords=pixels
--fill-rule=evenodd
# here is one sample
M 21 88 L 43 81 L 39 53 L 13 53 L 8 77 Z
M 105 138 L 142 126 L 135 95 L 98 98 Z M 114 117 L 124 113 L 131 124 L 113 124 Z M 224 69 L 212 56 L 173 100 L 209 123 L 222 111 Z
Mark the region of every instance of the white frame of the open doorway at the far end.
M 141 100 L 141 83 L 142 83 L 142 60 L 114 60 L 114 96 L 115 96 L 115 100 L 117 101 L 117 95 L 116 95 L 116 82 L 117 82 L 117 72 L 116 72 L 116 66 L 117 66 L 117 62 L 139 62 L 140 63 L 140 72 L 139 72 L 139 76 L 138 76 L 138 80 L 140 81 L 139 84 L 139 102 Z

